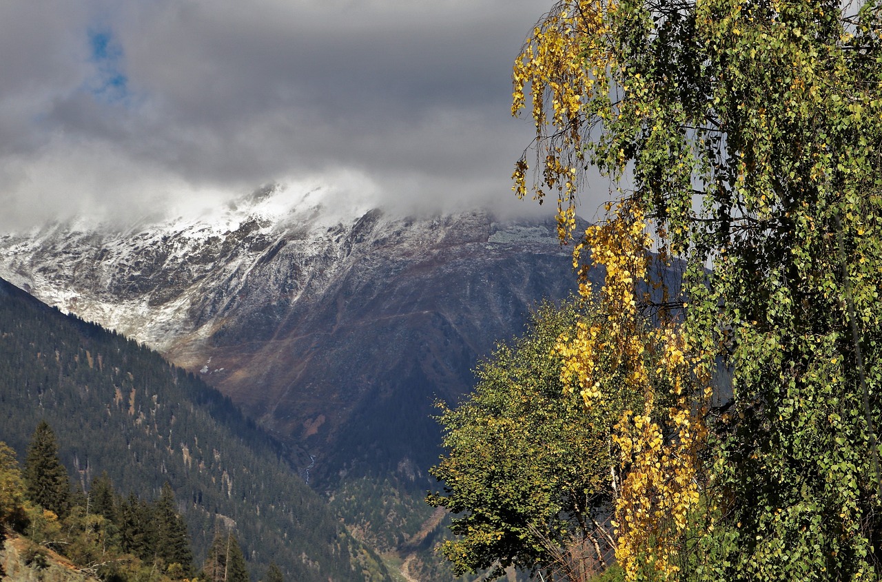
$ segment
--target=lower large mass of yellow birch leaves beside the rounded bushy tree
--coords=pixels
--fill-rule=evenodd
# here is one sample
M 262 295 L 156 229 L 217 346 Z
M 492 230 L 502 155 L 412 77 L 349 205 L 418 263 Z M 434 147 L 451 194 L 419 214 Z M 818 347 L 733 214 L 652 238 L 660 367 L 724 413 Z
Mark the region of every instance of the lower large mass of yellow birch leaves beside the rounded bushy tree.
M 561 379 L 572 392 L 578 387 L 587 407 L 611 391 L 644 395 L 644 409 L 626 411 L 614 435 L 624 474 L 616 501 L 617 561 L 632 580 L 649 556 L 657 574 L 669 578 L 677 571 L 676 539 L 699 504 L 711 391 L 709 384 L 695 390 L 696 378 L 706 374 L 699 373 L 700 359 L 684 334 L 674 324 L 654 328 L 640 310 L 636 289 L 647 281 L 652 244 L 641 208 L 624 201 L 609 211 L 609 220 L 588 228 L 585 243 L 574 249 L 577 263 L 587 245 L 594 264 L 605 268 L 598 299 L 608 317 L 579 324 L 575 337 L 558 340 Z M 590 286 L 580 292 L 592 298 Z

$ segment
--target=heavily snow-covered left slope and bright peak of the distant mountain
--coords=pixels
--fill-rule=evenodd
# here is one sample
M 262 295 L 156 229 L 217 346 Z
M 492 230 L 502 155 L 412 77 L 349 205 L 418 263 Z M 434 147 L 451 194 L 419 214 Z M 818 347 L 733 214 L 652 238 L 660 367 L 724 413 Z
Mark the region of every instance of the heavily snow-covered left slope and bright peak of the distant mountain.
M 49 305 L 166 353 L 192 332 L 210 335 L 213 310 L 228 307 L 224 297 L 240 291 L 273 244 L 289 246 L 302 265 L 330 258 L 333 239 L 361 213 L 327 212 L 319 190 L 291 196 L 273 185 L 172 220 L 114 228 L 78 218 L 0 235 L 0 273 Z

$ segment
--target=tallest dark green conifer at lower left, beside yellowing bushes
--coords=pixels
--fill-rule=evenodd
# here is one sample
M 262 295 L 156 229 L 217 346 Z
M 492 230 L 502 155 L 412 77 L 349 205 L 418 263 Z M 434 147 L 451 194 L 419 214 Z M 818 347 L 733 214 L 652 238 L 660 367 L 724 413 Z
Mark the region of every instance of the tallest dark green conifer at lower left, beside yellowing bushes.
M 49 423 L 41 421 L 27 448 L 24 470 L 27 496 L 59 518 L 71 510 L 71 480 L 58 459 L 58 444 Z

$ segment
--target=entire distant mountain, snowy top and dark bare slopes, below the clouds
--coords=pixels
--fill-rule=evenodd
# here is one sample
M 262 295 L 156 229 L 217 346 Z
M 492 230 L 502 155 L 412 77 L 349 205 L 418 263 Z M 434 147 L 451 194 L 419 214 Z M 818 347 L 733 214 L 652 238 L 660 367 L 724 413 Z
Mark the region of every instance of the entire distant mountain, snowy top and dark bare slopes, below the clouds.
M 307 477 L 424 476 L 433 399 L 460 399 L 534 302 L 572 290 L 569 250 L 553 221 L 314 198 L 265 188 L 195 219 L 3 235 L 0 277 L 198 371 L 302 446 Z

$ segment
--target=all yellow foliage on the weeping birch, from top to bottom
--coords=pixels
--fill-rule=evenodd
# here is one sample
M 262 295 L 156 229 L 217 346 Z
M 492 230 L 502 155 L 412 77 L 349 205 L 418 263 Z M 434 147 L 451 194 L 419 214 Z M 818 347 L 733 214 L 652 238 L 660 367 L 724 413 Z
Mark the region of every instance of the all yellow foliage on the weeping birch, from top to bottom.
M 639 73 L 617 75 L 622 69 L 609 18 L 616 12 L 610 1 L 561 0 L 535 26 L 514 63 L 512 115 L 527 108 L 530 93 L 537 135 L 535 168 L 541 179 L 529 190 L 540 203 L 557 190 L 558 235 L 564 243 L 576 228 L 577 176 L 587 164 L 593 123 L 649 115 L 651 104 L 641 99 L 650 88 L 647 79 Z M 621 86 L 626 99 L 615 105 L 609 101 L 610 78 L 627 79 Z M 612 148 L 608 169 L 623 172 L 626 158 L 624 149 Z M 688 164 L 680 166 L 689 173 Z M 512 175 L 520 198 L 528 190 L 528 170 L 522 158 Z M 623 475 L 616 501 L 617 561 L 629 580 L 637 578 L 647 559 L 662 578 L 676 574 L 676 539 L 699 504 L 699 451 L 707 437 L 703 414 L 711 396 L 698 348 L 676 324 L 665 322 L 660 329 L 642 309 L 638 289 L 653 288 L 645 207 L 637 198 L 607 205 L 608 218 L 587 228 L 574 245 L 579 295 L 595 302 L 606 318 L 579 324 L 556 346 L 564 362 L 562 383 L 587 407 L 621 392 L 643 395 L 644 409 L 627 411 L 614 439 Z M 666 231 L 660 226 L 657 232 L 664 237 Z M 583 257 L 586 251 L 590 261 Z M 666 251 L 662 244 L 665 262 Z M 605 269 L 596 297 L 587 280 L 589 265 Z M 662 293 L 667 301 L 667 291 Z

